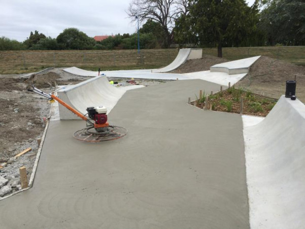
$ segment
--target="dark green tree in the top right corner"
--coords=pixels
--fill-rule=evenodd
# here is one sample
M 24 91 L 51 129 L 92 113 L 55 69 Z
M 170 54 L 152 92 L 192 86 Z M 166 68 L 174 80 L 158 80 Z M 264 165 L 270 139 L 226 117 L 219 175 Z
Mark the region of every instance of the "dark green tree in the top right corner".
M 305 44 L 305 2 L 303 0 L 270 0 L 260 15 L 259 28 L 265 31 L 269 45 Z

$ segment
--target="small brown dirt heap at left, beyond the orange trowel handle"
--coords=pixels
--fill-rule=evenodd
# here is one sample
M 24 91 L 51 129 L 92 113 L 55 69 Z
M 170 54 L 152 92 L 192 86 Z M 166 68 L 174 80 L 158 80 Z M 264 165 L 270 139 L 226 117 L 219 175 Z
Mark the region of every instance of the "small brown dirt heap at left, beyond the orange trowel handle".
M 50 88 L 55 86 L 55 81 L 59 78 L 61 77 L 55 72 L 48 72 L 42 75 L 32 74 L 25 80 L 25 83 L 27 83 L 29 87 L 35 85 L 36 88 Z

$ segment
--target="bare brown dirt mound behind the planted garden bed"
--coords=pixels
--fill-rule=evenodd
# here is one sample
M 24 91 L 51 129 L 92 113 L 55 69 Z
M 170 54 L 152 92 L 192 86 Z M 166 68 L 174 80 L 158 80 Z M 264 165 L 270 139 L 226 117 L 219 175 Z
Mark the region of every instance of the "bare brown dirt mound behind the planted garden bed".
M 285 94 L 286 80 L 296 76 L 296 96 L 305 102 L 305 67 L 261 56 L 250 68 L 248 75 L 236 83 L 251 92 L 279 99 Z

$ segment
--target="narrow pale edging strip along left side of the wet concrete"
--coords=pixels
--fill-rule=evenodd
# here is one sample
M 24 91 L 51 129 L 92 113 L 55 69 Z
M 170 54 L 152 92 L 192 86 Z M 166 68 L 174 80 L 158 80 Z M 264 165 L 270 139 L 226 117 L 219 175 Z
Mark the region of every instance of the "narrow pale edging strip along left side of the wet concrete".
M 53 104 L 52 104 L 52 106 L 53 106 Z M 52 107 L 50 108 L 49 119 L 51 118 L 51 110 L 52 110 Z M 36 171 L 37 171 L 38 162 L 39 162 L 41 151 L 42 151 L 42 147 L 44 145 L 44 141 L 45 141 L 47 130 L 48 130 L 49 123 L 50 123 L 49 119 L 46 123 L 46 127 L 45 127 L 44 133 L 43 133 L 42 138 L 41 138 L 41 142 L 40 142 L 40 145 L 39 145 L 39 148 L 38 148 L 38 151 L 37 151 L 36 159 L 35 159 L 35 162 L 34 162 L 34 165 L 33 165 L 33 168 L 32 168 L 31 176 L 30 176 L 30 179 L 29 179 L 29 182 L 28 182 L 28 187 L 24 188 L 24 189 L 21 189 L 17 192 L 13 192 L 13 193 L 11 193 L 9 195 L 6 195 L 4 197 L 0 197 L 0 201 L 32 188 L 33 183 L 34 183 L 34 179 L 35 179 L 35 175 L 36 175 Z

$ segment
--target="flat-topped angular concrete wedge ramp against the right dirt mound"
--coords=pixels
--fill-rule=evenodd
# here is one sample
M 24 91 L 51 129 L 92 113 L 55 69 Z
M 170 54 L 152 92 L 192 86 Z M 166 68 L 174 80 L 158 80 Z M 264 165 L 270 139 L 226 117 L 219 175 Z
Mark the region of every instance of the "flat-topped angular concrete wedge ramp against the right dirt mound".
M 229 75 L 248 73 L 251 65 L 253 65 L 259 58 L 260 55 L 252 58 L 217 64 L 212 66 L 210 71 L 225 72 Z

